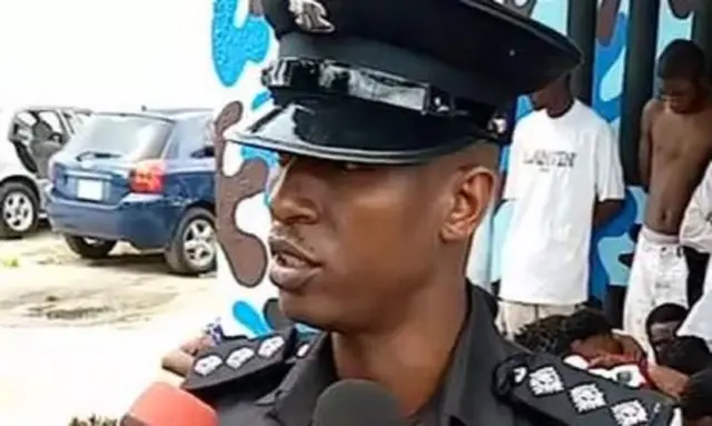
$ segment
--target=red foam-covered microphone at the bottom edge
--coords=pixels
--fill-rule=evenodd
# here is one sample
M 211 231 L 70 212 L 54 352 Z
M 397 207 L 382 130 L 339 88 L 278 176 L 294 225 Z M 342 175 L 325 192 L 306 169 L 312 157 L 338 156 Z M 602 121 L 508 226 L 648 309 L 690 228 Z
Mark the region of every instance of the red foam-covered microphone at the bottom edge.
M 146 389 L 119 422 L 119 426 L 217 425 L 218 416 L 207 404 L 160 382 Z

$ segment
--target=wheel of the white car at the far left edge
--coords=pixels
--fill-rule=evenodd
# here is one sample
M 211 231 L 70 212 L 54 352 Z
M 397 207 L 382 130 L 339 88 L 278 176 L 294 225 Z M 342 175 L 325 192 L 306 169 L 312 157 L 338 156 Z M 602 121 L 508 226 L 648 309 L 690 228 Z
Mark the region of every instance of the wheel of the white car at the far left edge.
M 0 186 L 0 238 L 20 238 L 33 232 L 38 224 L 39 200 L 27 184 Z

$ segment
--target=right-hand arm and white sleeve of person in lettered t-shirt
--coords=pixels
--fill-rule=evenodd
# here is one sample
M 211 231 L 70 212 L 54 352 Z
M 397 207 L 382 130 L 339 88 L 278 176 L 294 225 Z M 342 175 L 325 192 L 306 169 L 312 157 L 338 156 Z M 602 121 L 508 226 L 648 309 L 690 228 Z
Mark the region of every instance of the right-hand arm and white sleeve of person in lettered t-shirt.
M 605 126 L 599 130 L 595 141 L 596 204 L 593 209 L 593 226 L 599 227 L 623 208 L 625 184 L 621 156 L 613 129 Z

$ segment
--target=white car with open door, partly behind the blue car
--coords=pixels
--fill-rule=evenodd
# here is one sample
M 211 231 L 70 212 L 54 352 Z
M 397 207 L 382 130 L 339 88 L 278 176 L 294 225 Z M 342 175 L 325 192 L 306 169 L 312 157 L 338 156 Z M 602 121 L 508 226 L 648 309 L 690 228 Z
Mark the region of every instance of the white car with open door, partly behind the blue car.
M 46 216 L 48 162 L 89 116 L 72 107 L 0 108 L 0 239 L 34 231 Z

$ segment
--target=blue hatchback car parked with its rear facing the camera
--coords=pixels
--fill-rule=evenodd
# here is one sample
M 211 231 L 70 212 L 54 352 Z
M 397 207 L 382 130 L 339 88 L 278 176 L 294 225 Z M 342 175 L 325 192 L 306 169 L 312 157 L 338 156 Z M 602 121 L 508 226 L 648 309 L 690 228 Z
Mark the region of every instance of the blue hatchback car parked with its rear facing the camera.
M 49 166 L 52 228 L 83 258 L 118 241 L 171 271 L 215 269 L 215 150 L 207 110 L 100 112 Z

